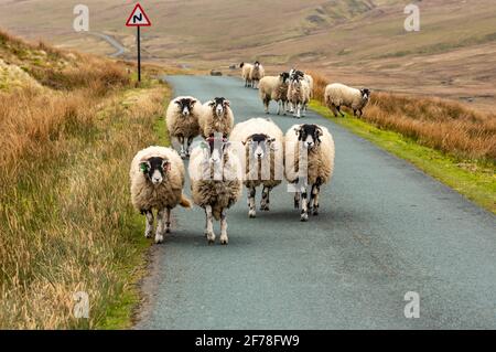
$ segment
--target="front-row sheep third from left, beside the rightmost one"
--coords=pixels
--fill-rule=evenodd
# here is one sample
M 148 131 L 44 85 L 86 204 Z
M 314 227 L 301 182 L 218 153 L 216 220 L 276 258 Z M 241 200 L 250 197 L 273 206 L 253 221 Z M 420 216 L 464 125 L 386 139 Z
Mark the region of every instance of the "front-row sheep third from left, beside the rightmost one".
M 270 119 L 252 118 L 237 124 L 230 134 L 244 167 L 244 184 L 248 190 L 248 216 L 256 217 L 256 189 L 263 185 L 261 211 L 269 211 L 270 191 L 283 179 L 283 141 L 281 129 Z

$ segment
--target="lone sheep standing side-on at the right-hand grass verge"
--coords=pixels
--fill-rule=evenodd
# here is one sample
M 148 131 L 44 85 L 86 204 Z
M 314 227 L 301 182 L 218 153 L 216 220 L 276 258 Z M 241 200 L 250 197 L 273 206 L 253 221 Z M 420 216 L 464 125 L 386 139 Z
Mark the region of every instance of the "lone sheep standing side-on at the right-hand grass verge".
M 362 117 L 364 116 L 363 109 L 370 99 L 370 89 L 356 89 L 341 83 L 334 83 L 325 87 L 324 97 L 325 105 L 333 111 L 335 117 L 337 117 L 337 114 L 344 117 L 344 114 L 341 111 L 342 106 L 353 109 L 353 115 L 357 117 L 357 111 L 359 111 Z

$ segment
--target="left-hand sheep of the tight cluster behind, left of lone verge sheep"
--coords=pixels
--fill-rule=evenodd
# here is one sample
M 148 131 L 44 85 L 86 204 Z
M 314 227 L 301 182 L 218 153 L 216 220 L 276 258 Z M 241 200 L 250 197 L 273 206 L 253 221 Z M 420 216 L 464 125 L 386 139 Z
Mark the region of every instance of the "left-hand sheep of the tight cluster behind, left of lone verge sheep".
M 285 115 L 285 105 L 288 104 L 288 81 L 289 73 L 283 72 L 277 76 L 265 76 L 260 79 L 259 95 L 263 102 L 266 114 L 269 114 L 270 100 L 278 103 L 278 115 Z

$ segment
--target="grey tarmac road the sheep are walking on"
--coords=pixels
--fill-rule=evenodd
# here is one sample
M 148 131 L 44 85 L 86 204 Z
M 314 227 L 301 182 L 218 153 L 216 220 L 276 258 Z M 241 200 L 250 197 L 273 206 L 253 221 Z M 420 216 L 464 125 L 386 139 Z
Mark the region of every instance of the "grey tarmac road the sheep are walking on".
M 263 116 L 239 79 L 164 79 L 175 95 L 230 99 L 237 121 Z M 270 117 L 284 132 L 296 122 Z M 228 212 L 229 245 L 216 224 L 208 246 L 203 210 L 176 209 L 136 328 L 495 329 L 496 216 L 316 114 L 299 122 L 327 127 L 336 143 L 321 215 L 301 223 L 283 183 L 271 211 L 250 220 L 245 191 Z M 403 313 L 409 291 L 420 295 L 418 319 Z

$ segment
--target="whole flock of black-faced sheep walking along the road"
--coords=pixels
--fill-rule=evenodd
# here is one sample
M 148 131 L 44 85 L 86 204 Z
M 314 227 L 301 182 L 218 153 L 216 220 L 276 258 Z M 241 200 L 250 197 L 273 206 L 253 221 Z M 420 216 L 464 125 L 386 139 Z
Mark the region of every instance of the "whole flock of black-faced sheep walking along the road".
M 278 103 L 278 115 L 288 110 L 304 116 L 313 95 L 313 79 L 301 71 L 291 70 L 279 76 L 265 76 L 259 62 L 241 64 L 246 87 L 258 87 L 268 113 L 271 100 Z M 368 89 L 330 85 L 325 100 L 334 114 L 351 107 L 355 114 L 365 107 Z M 294 193 L 294 207 L 300 220 L 319 214 L 321 186 L 331 181 L 334 169 L 334 141 L 328 130 L 319 125 L 296 124 L 285 134 L 270 119 L 251 118 L 235 125 L 229 100 L 216 97 L 202 103 L 191 96 L 173 99 L 165 114 L 173 148 L 149 147 L 139 151 L 131 163 L 131 200 L 145 215 L 145 237 L 153 236 L 157 213 L 155 243 L 162 243 L 171 231 L 171 210 L 192 202 L 183 194 L 185 167 L 193 202 L 205 211 L 204 234 L 208 244 L 215 242 L 214 220 L 220 221 L 220 244 L 228 243 L 227 210 L 248 193 L 248 216 L 256 217 L 256 193 L 261 188 L 260 210 L 269 211 L 270 192 L 285 179 Z M 202 141 L 193 145 L 196 137 Z M 310 192 L 310 193 L 309 193 Z

